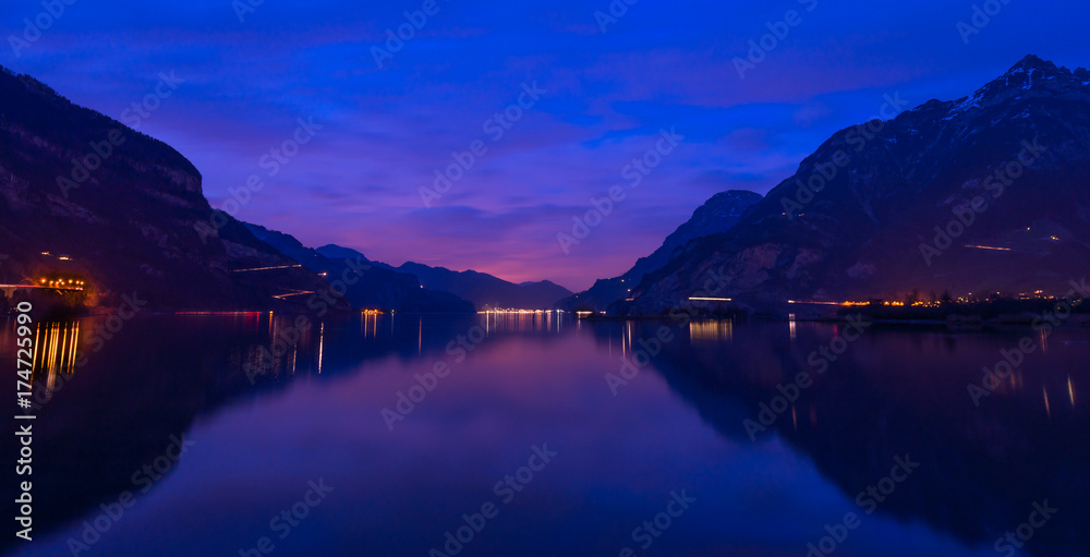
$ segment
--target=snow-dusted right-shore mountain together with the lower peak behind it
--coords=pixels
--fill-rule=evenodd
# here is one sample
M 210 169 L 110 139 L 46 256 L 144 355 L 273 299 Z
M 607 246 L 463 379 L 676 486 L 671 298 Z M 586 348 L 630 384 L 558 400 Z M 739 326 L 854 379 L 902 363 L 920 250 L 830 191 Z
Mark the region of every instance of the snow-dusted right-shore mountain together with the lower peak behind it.
M 717 295 L 764 305 L 1065 295 L 1090 263 L 1088 175 L 1090 72 L 1028 56 L 970 97 L 837 132 L 738 226 L 687 245 L 613 311 L 665 311 L 713 275 Z

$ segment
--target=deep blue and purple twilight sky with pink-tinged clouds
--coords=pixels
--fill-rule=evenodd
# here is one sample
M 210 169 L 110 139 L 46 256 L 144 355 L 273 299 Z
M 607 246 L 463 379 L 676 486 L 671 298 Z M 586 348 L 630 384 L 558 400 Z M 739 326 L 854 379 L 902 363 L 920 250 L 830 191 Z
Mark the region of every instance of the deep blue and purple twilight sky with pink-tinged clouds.
M 12 1 L 0 64 L 167 142 L 240 220 L 578 291 L 715 193 L 766 193 L 887 98 L 964 97 L 1028 53 L 1090 65 L 1082 8 Z

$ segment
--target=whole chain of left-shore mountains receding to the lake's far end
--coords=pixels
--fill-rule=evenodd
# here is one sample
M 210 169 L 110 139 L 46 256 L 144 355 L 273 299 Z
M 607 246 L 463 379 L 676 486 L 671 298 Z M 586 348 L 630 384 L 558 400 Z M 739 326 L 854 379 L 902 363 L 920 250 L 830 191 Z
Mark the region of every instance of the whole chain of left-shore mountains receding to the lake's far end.
M 135 300 L 155 312 L 303 310 L 306 294 L 338 280 L 348 284 L 341 310 L 474 311 L 445 284 L 482 305 L 547 307 L 570 294 L 323 251 L 216 210 L 199 171 L 169 145 L 0 68 L 0 283 L 83 281 L 65 303 L 109 311 Z

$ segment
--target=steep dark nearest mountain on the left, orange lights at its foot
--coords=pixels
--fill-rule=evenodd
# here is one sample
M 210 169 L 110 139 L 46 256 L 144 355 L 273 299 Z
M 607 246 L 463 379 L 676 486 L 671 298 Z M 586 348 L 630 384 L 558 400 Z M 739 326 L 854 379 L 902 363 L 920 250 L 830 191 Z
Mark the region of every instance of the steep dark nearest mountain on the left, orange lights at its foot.
M 152 311 L 269 308 L 323 283 L 214 211 L 201 181 L 170 146 L 0 68 L 0 282 L 82 280 L 74 305 Z M 255 267 L 288 268 L 233 273 Z

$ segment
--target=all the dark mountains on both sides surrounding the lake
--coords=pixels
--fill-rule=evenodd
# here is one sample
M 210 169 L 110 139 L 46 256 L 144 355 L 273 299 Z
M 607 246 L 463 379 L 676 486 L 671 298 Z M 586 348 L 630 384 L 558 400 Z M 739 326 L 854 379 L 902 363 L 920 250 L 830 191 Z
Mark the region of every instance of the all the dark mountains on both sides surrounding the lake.
M 215 210 L 177 150 L 33 77 L 0 69 L 0 283 L 86 280 L 92 306 L 299 305 L 352 271 L 346 308 L 656 314 L 712 283 L 751 307 L 1064 295 L 1090 262 L 1090 72 L 1033 56 L 970 96 L 833 134 L 764 197 L 715 195 L 627 273 L 573 295 L 305 247 Z

